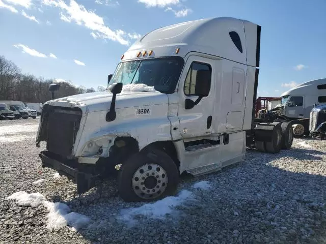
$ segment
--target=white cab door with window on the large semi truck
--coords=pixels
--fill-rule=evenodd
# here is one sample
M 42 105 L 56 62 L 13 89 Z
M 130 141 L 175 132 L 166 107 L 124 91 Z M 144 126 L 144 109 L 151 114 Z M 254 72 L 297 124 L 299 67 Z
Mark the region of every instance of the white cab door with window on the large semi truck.
M 182 72 L 178 93 L 178 117 L 180 133 L 183 139 L 207 136 L 211 134 L 212 117 L 214 111 L 214 60 L 191 55 L 188 57 Z M 196 95 L 196 87 L 206 80 L 198 80 L 197 74 L 209 74 L 201 79 L 209 79 L 210 90 L 208 96 L 200 98 Z M 207 82 L 205 83 L 207 85 Z M 200 87 L 197 87 L 200 88 Z M 189 100 L 193 107 L 187 107 Z

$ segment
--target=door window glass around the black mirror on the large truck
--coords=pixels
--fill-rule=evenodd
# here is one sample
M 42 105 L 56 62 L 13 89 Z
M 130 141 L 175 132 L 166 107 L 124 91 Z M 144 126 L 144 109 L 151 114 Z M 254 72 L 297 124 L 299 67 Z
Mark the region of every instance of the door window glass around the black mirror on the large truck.
M 193 62 L 188 70 L 187 77 L 185 78 L 184 82 L 184 94 L 187 96 L 194 96 L 195 95 L 195 87 L 196 85 L 196 76 L 198 70 L 209 70 L 210 73 L 212 69 L 208 64 L 202 64 L 198 62 Z

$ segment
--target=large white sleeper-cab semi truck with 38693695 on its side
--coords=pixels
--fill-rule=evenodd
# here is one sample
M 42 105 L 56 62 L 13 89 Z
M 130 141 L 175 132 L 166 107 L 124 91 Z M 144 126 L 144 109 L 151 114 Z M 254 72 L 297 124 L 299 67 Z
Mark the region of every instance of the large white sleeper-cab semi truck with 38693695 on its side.
M 73 179 L 77 193 L 118 172 L 125 201 L 173 195 L 179 175 L 220 170 L 247 146 L 291 147 L 289 123 L 255 123 L 261 26 L 229 17 L 162 27 L 121 57 L 105 92 L 42 107 L 36 146 L 43 167 Z

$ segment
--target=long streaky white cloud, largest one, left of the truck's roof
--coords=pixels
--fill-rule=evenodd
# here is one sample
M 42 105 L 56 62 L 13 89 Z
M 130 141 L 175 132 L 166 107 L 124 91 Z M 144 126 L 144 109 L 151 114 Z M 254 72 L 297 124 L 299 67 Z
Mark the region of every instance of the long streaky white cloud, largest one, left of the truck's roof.
M 63 0 L 43 0 L 43 4 L 60 8 L 63 11 L 60 18 L 66 22 L 84 25 L 102 39 L 110 39 L 122 45 L 129 45 L 129 41 L 125 38 L 127 34 L 124 31 L 121 29 L 113 31 L 104 24 L 102 17 L 87 10 L 83 5 L 78 5 L 74 0 L 71 0 L 69 5 Z

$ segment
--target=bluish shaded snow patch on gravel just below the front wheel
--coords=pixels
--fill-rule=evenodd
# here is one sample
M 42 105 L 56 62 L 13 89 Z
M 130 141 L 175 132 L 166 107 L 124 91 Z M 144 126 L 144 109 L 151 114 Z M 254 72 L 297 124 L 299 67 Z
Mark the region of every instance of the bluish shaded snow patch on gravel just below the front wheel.
M 129 227 L 131 227 L 137 223 L 134 217 L 138 215 L 147 216 L 151 219 L 165 219 L 167 214 L 171 214 L 174 211 L 174 207 L 183 204 L 186 200 L 191 199 L 192 196 L 192 192 L 182 190 L 178 196 L 169 196 L 140 207 L 122 209 L 117 220 L 127 222 Z

